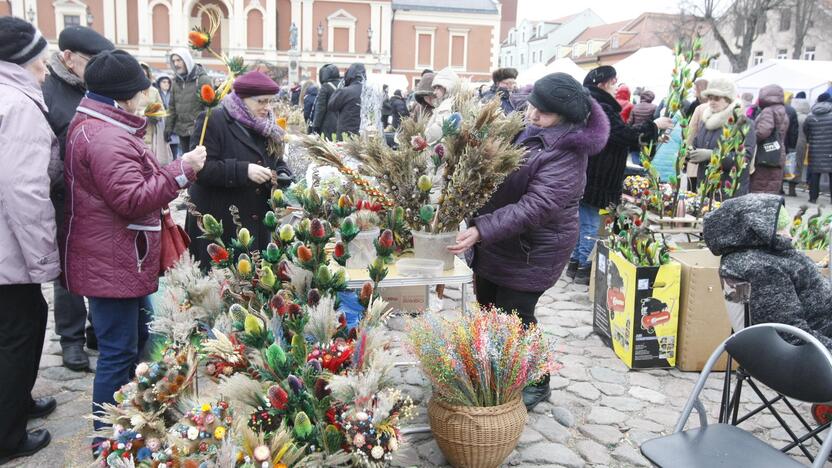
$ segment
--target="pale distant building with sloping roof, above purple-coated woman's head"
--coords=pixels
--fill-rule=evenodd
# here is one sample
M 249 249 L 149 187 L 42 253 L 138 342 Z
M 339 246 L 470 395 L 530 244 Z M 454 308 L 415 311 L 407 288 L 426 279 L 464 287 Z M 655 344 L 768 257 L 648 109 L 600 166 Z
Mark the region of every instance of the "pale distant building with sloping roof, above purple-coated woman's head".
M 523 20 L 508 31 L 500 46 L 500 66 L 527 70 L 538 63 L 560 58 L 558 51 L 572 43 L 583 31 L 604 24 L 591 9 L 548 21 Z

